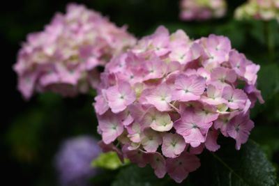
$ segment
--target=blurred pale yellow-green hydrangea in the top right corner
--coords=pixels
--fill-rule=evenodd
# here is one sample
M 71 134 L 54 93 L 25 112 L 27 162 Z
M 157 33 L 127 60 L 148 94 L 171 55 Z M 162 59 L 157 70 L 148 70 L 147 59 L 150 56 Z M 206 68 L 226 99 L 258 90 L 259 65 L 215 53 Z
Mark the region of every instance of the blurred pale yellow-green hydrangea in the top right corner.
M 239 20 L 278 20 L 279 21 L 279 1 L 278 0 L 249 0 L 236 9 L 235 17 Z

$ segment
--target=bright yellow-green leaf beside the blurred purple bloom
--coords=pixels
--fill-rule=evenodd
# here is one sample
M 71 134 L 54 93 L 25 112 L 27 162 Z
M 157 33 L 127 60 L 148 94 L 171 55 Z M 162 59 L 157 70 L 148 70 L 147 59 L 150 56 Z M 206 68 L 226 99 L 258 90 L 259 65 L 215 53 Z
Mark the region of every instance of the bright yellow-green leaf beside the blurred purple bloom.
M 124 159 L 124 163 L 122 163 L 115 152 L 109 152 L 109 153 L 101 153 L 99 157 L 97 157 L 95 160 L 93 160 L 93 162 L 91 162 L 91 165 L 103 169 L 115 170 L 129 163 L 130 162 L 128 159 Z

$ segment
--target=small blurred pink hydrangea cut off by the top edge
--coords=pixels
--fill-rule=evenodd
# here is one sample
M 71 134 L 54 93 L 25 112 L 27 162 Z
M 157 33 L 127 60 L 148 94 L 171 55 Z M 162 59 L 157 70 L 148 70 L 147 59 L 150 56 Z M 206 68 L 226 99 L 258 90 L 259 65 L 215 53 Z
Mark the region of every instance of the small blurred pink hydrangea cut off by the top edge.
M 181 20 L 209 20 L 223 17 L 227 11 L 224 0 L 181 0 Z

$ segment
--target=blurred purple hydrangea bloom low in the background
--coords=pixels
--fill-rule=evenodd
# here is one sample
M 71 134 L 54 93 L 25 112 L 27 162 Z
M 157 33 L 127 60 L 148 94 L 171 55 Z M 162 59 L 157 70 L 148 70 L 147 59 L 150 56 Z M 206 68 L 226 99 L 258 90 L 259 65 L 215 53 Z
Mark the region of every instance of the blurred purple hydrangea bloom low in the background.
M 98 173 L 91 161 L 100 154 L 97 141 L 89 136 L 74 137 L 63 142 L 56 155 L 56 170 L 62 186 L 86 186 Z

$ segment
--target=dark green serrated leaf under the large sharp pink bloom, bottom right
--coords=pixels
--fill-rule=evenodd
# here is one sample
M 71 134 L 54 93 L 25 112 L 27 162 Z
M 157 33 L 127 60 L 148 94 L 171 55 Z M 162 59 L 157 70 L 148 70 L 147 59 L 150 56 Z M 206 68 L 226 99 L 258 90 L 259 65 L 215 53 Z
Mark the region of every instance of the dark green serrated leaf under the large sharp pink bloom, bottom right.
M 276 186 L 276 170 L 254 141 L 237 151 L 232 144 L 206 153 L 193 176 L 195 185 Z M 197 179 L 202 178 L 202 179 Z

